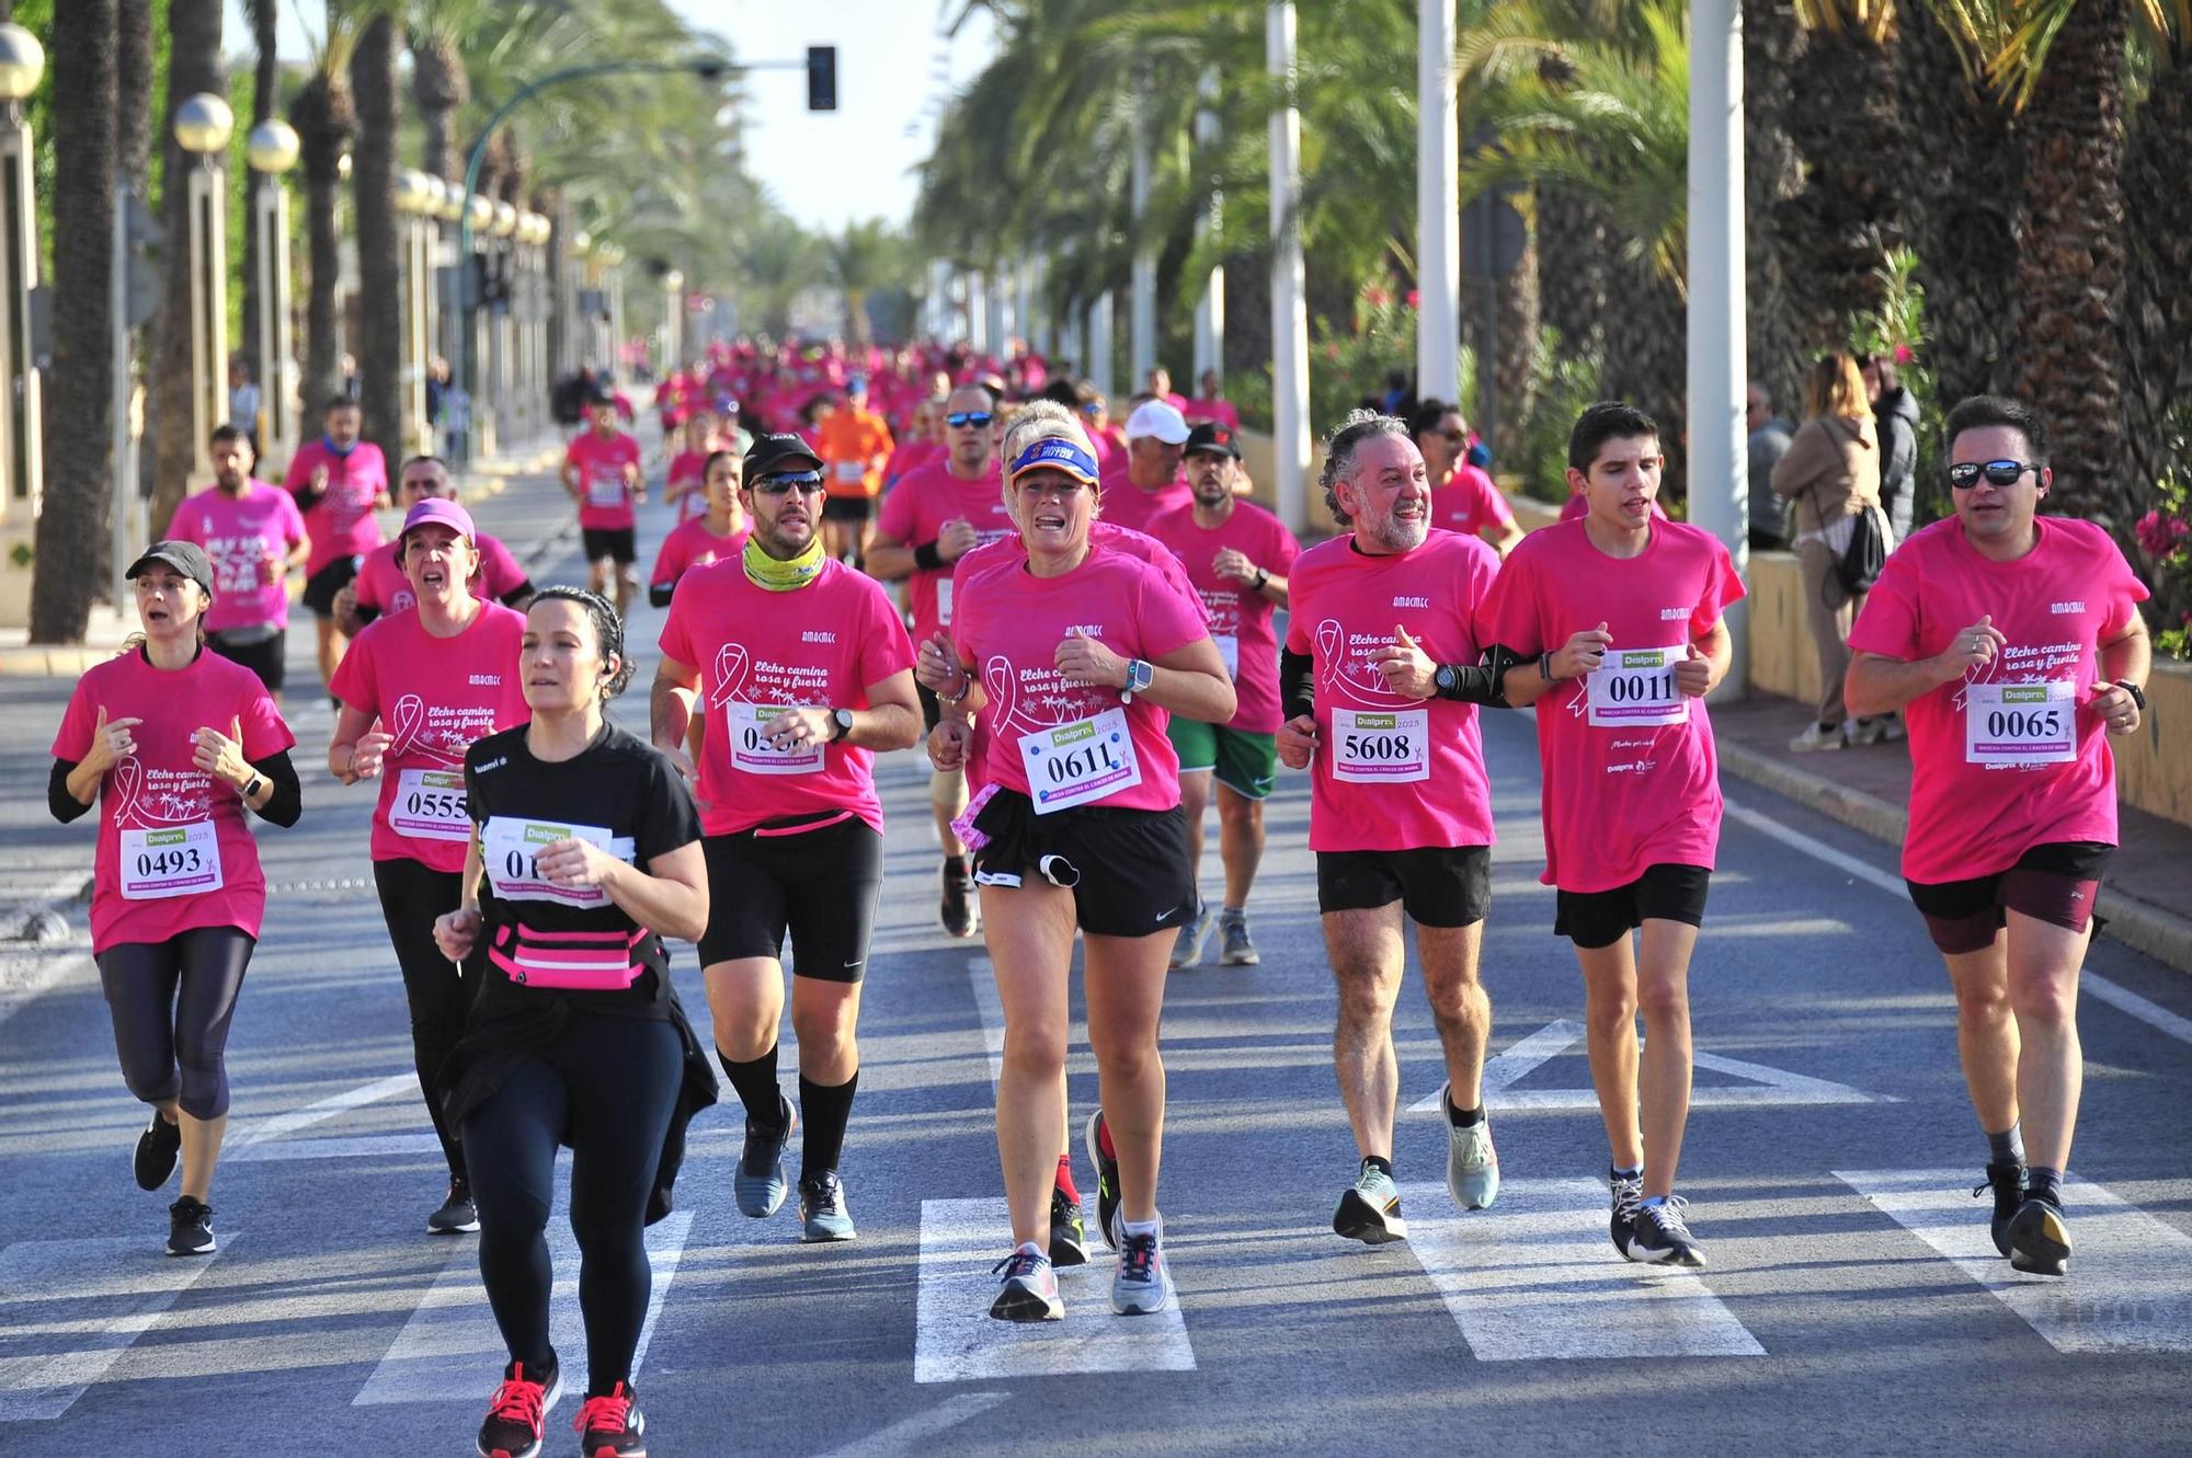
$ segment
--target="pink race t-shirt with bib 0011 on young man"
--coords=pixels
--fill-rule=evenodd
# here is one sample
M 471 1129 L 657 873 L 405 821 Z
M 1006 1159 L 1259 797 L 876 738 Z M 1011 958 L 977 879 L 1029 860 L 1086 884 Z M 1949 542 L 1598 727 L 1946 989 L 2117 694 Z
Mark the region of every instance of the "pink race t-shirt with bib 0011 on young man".
M 1583 523 L 1552 525 L 1523 536 L 1499 569 L 1477 609 L 1482 644 L 1534 659 L 1598 624 L 1613 635 L 1596 690 L 1574 679 L 1537 701 L 1548 887 L 1611 891 L 1655 865 L 1714 865 L 1712 720 L 1705 701 L 1675 692 L 1666 674 L 1740 595 L 1727 547 L 1679 521 L 1655 521 L 1631 558 L 1594 547 Z M 1633 650 L 1642 655 L 1613 661 Z

